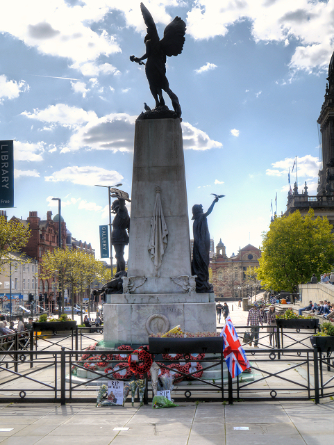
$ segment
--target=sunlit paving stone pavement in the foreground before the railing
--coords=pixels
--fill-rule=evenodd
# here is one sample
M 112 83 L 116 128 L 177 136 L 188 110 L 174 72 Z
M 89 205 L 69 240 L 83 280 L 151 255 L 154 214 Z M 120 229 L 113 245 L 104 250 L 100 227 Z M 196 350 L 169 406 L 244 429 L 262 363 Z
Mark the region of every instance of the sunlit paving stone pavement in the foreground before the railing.
M 1 404 L 2 428 L 12 430 L 0 430 L 1 445 L 329 445 L 334 402 L 184 403 L 161 410 L 131 403 Z

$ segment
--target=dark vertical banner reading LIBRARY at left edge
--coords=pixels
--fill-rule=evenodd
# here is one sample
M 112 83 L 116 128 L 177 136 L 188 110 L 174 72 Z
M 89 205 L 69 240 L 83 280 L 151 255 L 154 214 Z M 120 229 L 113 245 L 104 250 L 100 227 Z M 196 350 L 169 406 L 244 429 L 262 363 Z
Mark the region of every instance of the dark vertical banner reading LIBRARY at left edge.
M 0 140 L 0 209 L 14 207 L 13 141 Z

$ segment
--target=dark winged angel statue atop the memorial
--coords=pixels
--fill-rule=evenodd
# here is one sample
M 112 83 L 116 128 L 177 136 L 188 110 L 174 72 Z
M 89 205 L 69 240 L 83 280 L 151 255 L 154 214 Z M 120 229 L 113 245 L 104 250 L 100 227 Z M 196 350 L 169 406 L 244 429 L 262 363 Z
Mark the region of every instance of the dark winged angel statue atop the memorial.
M 185 22 L 180 17 L 175 19 L 166 26 L 164 36 L 159 40 L 156 24 L 149 10 L 140 3 L 142 16 L 147 26 L 147 35 L 144 38 L 146 44 L 146 52 L 144 56 L 138 58 L 131 56 L 131 62 L 137 62 L 140 65 L 145 65 L 142 60 L 147 59 L 145 65 L 145 72 L 147 80 L 149 81 L 149 89 L 156 100 L 156 108 L 165 106 L 165 101 L 162 97 L 162 90 L 167 92 L 176 116 L 181 117 L 181 106 L 178 102 L 177 96 L 169 88 L 169 83 L 166 77 L 166 56 L 177 56 L 181 54 L 183 44 L 185 42 Z

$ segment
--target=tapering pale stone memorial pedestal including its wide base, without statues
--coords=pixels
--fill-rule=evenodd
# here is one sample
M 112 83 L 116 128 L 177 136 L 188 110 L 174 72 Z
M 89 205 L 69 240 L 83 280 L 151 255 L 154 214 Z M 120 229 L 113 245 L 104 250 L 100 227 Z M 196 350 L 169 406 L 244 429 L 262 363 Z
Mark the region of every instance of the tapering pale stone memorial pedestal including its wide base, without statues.
M 215 331 L 213 293 L 195 293 L 179 119 L 137 120 L 128 276 L 107 296 L 104 341 L 147 343 L 176 325 Z

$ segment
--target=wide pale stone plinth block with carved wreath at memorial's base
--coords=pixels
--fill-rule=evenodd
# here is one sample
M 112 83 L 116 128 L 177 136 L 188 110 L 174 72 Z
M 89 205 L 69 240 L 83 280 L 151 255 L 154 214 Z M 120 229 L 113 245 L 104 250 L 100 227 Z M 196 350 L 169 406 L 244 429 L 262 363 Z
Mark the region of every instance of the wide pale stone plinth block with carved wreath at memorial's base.
M 167 332 L 177 325 L 183 332 L 216 331 L 213 293 L 114 295 L 103 305 L 103 318 L 104 341 L 109 347 L 147 344 L 149 334 Z

